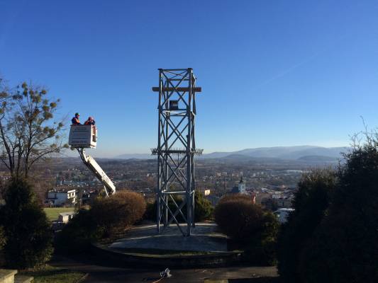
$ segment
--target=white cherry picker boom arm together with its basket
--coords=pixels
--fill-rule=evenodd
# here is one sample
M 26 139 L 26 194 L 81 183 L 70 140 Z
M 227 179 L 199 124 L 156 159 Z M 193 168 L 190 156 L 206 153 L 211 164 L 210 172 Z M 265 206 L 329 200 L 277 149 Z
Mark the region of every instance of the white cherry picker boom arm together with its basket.
M 94 173 L 96 178 L 104 185 L 106 196 L 116 192 L 116 186 L 106 175 L 93 157 L 85 154 L 85 149 L 95 149 L 97 143 L 97 128 L 94 125 L 72 125 L 68 144 L 76 148 L 85 166 Z

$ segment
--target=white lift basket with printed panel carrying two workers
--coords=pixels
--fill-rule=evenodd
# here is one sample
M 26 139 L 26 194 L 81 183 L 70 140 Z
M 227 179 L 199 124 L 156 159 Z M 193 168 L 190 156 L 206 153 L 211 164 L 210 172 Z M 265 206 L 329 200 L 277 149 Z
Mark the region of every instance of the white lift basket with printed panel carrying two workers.
M 72 125 L 68 144 L 80 149 L 95 149 L 97 128 L 94 125 Z

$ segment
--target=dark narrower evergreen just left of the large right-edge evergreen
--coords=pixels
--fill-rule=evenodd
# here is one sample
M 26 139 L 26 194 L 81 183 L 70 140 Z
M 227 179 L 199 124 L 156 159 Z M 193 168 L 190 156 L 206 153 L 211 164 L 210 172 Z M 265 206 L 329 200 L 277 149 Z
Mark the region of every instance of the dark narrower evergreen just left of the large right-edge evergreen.
M 282 225 L 278 237 L 277 268 L 284 282 L 301 282 L 302 249 L 326 214 L 335 181 L 335 172 L 330 169 L 302 175 L 294 195 L 295 210 Z

